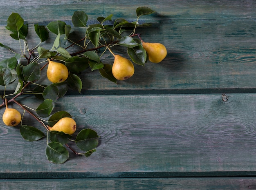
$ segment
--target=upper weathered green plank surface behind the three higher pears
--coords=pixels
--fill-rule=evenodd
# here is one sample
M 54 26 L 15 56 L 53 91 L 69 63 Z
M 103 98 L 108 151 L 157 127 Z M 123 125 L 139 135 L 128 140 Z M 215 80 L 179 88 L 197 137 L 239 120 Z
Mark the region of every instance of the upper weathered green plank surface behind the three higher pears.
M 115 18 L 124 17 L 135 19 L 135 9 L 145 6 L 145 2 L 138 0 L 127 6 L 124 1 L 102 2 L 98 6 L 95 1 L 81 2 L 65 1 L 64 3 L 49 2 L 48 5 L 38 1 L 26 1 L 19 4 L 26 9 L 14 9 L 12 5 L 4 2 L 4 13 L 1 14 L 0 36 L 1 42 L 11 45 L 4 29 L 4 22 L 11 11 L 18 11 L 30 20 L 30 28 L 36 22 L 49 23 L 52 20 L 71 20 L 75 10 L 85 10 L 91 21 L 97 16 L 107 16 L 110 13 Z M 100 93 L 103 91 L 144 90 L 150 93 L 212 93 L 223 89 L 229 93 L 255 92 L 256 80 L 256 2 L 254 0 L 241 1 L 156 1 L 147 2 L 147 6 L 164 16 L 145 17 L 153 25 L 150 33 L 148 29 L 140 29 L 144 41 L 160 42 L 166 45 L 168 55 L 161 64 L 148 62 L 145 67 L 135 66 L 135 75 L 118 85 L 102 79 L 97 71 L 85 71 L 81 76 L 83 93 Z M 68 9 L 67 9 L 68 7 Z M 122 8 L 123 7 L 123 8 Z M 124 8 L 125 7 L 125 8 Z M 58 11 L 56 11 L 58 8 Z M 47 10 L 47 11 L 46 11 Z M 43 16 L 42 16 L 43 15 Z M 49 42 L 54 41 L 51 35 Z M 38 44 L 33 34 L 31 46 Z M 16 42 L 17 43 L 17 42 Z M 51 46 L 51 45 L 50 45 Z M 17 47 L 18 44 L 17 44 Z M 124 54 L 124 50 L 115 50 Z M 0 48 L 0 60 L 10 56 Z M 112 64 L 110 54 L 102 57 L 104 63 Z M 45 79 L 47 83 L 47 79 Z M 14 89 L 15 84 L 9 90 Z M 155 91 L 156 90 L 156 91 Z M 112 93 L 112 92 L 111 92 Z M 136 92 L 135 92 L 136 93 Z M 146 92 L 147 93 L 147 92 Z

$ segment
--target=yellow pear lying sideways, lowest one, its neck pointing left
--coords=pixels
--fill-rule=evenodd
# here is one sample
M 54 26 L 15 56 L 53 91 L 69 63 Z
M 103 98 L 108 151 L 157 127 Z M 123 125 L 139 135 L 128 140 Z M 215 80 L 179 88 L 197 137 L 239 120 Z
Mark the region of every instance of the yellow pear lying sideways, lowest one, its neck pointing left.
M 47 127 L 49 128 L 49 130 L 56 130 L 59 132 L 62 131 L 63 133 L 72 135 L 76 131 L 76 122 L 74 119 L 70 117 L 63 117 L 60 120 L 58 120 L 58 122 L 54 126 Z

